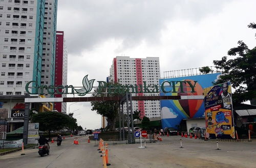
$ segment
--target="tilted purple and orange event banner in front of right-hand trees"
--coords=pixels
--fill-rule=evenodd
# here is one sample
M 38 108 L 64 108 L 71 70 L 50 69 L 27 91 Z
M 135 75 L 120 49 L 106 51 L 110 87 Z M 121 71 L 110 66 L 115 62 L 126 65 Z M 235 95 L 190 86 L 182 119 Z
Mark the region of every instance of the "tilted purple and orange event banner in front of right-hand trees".
M 232 96 L 230 82 L 204 89 L 206 130 L 216 137 L 234 138 Z

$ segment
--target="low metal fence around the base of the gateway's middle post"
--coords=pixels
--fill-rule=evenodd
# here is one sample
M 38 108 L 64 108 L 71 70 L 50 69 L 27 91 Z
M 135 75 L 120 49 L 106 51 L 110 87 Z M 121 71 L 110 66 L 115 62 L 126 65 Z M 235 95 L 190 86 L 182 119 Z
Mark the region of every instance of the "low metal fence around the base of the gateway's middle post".
M 117 134 L 118 133 L 118 134 Z M 119 132 L 115 132 L 115 134 L 104 134 L 100 133 L 98 134 L 98 139 L 101 138 L 104 140 L 105 143 L 108 143 L 109 145 L 114 145 L 114 144 L 135 144 L 135 143 L 140 143 L 140 138 L 134 137 L 134 134 L 125 132 L 124 138 L 120 138 Z M 90 136 L 91 140 L 94 140 L 94 136 Z M 154 143 L 154 134 L 152 131 L 147 131 L 147 137 L 141 137 L 141 141 L 143 143 Z M 95 145 L 98 145 L 99 142 L 95 141 Z

